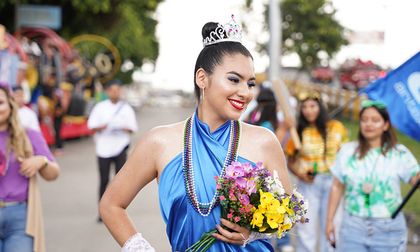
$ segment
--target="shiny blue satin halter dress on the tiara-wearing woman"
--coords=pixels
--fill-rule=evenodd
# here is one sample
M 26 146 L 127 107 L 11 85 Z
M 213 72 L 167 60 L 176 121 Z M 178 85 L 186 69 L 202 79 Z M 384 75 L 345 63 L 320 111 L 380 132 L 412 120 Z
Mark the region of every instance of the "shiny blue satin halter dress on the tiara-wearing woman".
M 220 175 L 230 137 L 227 121 L 213 133 L 198 116 L 193 120 L 192 158 L 198 200 L 210 202 L 216 191 L 215 176 Z M 238 157 L 239 162 L 250 162 Z M 159 180 L 160 210 L 166 223 L 166 233 L 172 251 L 185 251 L 201 235 L 220 223 L 220 206 L 207 217 L 201 216 L 190 204 L 184 185 L 182 153 L 164 168 Z M 208 251 L 274 251 L 267 240 L 257 240 L 245 248 L 217 240 Z

